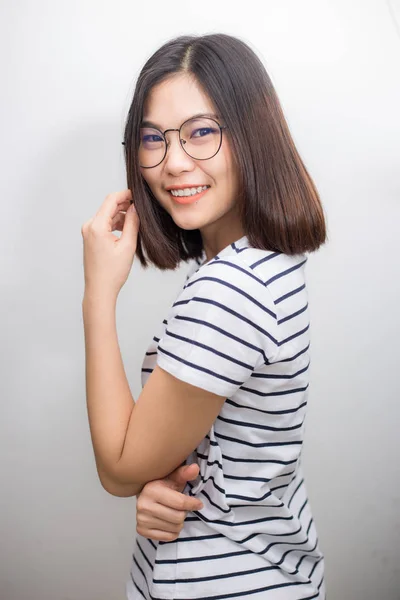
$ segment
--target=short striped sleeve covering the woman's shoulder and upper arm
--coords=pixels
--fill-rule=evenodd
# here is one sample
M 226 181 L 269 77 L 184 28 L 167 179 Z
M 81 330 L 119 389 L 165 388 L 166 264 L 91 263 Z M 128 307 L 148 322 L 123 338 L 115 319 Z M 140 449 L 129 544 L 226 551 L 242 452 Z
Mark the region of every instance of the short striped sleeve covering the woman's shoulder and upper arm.
M 276 330 L 264 283 L 235 258 L 215 261 L 187 281 L 172 306 L 157 364 L 182 381 L 230 397 L 276 354 Z

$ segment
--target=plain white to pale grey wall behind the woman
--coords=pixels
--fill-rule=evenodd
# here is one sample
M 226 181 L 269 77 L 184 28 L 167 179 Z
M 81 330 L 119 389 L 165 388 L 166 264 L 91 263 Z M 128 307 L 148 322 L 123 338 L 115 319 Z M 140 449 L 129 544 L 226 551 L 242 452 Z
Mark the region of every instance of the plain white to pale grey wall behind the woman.
M 305 471 L 328 598 L 400 598 L 399 0 L 2 0 L 0 22 L 1 600 L 124 598 L 135 501 L 95 470 L 80 228 L 126 187 L 145 60 L 212 32 L 263 59 L 327 215 L 330 242 L 308 262 Z M 121 292 L 134 397 L 187 270 L 135 263 Z

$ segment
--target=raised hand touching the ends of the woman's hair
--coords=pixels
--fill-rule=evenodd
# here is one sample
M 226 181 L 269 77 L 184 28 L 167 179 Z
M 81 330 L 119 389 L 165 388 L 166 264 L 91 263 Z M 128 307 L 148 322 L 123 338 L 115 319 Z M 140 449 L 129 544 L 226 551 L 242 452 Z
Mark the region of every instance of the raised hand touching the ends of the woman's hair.
M 131 199 L 129 189 L 109 194 L 97 214 L 82 225 L 86 289 L 117 297 L 128 279 L 140 223 Z M 112 233 L 116 230 L 122 231 L 120 238 Z

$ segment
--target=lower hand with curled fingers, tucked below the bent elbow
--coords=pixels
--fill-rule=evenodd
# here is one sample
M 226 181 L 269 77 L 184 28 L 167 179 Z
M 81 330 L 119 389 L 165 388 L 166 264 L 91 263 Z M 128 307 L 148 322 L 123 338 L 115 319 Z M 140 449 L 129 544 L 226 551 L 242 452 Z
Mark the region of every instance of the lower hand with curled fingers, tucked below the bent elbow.
M 197 498 L 182 494 L 186 482 L 198 474 L 199 466 L 192 463 L 178 467 L 164 479 L 146 483 L 136 500 L 136 531 L 151 540 L 176 540 L 188 511 L 204 507 Z

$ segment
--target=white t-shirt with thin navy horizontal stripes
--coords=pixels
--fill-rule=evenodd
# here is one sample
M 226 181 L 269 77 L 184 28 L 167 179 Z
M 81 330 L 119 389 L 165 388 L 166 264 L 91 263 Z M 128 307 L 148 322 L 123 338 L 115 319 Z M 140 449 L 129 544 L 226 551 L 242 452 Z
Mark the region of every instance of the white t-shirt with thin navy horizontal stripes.
M 137 534 L 127 597 L 196 600 L 325 598 L 324 559 L 301 468 L 309 385 L 304 255 L 250 246 L 247 236 L 194 261 L 146 353 L 187 383 L 226 396 L 187 458 L 177 540 Z

